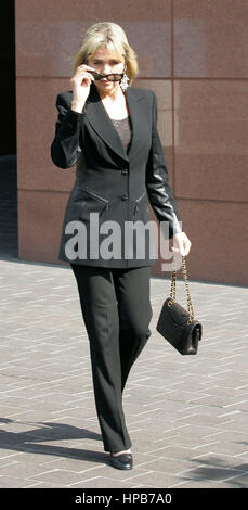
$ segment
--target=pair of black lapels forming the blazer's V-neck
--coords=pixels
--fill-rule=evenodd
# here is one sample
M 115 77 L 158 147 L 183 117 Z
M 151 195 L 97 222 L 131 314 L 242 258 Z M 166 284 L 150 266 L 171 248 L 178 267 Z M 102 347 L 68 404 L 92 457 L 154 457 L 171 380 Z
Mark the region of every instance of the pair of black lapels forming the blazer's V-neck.
M 125 150 L 120 137 L 113 125 L 94 84 L 91 85 L 91 91 L 86 103 L 86 116 L 94 131 L 109 145 L 120 157 L 129 161 L 139 142 L 139 136 L 142 128 L 146 128 L 146 119 L 143 113 L 143 102 L 141 97 L 135 97 L 133 90 L 128 88 L 125 91 L 129 114 L 132 125 L 132 140 L 129 151 Z M 142 116 L 143 115 L 143 116 Z

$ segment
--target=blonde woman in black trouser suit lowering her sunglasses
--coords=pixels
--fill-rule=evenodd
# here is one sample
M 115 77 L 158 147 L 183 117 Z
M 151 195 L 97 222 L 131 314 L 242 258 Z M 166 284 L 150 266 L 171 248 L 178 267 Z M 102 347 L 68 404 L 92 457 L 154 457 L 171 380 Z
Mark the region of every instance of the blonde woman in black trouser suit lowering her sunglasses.
M 104 450 L 117 469 L 133 467 L 122 392 L 151 336 L 155 258 L 142 229 L 151 219 L 148 203 L 168 226 L 174 250 L 185 256 L 191 248 L 168 183 L 156 95 L 130 87 L 136 75 L 135 53 L 122 28 L 108 22 L 90 27 L 75 60 L 73 90 L 57 95 L 51 146 L 58 167 L 77 163 L 58 256 L 76 277 Z M 135 221 L 131 235 L 127 227 Z

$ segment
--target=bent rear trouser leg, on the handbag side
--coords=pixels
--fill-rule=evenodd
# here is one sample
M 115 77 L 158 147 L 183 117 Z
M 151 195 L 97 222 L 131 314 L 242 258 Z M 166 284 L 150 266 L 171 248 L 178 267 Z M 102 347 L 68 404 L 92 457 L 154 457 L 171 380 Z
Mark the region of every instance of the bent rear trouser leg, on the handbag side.
M 152 334 L 148 328 L 153 316 L 149 279 L 151 266 L 114 272 L 119 313 L 121 392 L 131 367 Z

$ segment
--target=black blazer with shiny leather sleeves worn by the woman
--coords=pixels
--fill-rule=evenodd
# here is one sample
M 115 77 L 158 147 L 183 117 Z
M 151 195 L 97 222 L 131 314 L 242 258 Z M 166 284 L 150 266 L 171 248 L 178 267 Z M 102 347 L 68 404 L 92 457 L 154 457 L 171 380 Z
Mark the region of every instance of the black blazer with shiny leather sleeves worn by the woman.
M 77 164 L 76 181 L 64 215 L 60 260 L 120 268 L 154 264 L 158 256 L 154 237 L 144 229 L 144 224 L 152 219 L 149 204 L 158 222 L 167 221 L 169 238 L 182 230 L 157 131 L 156 94 L 130 87 L 125 94 L 132 125 L 128 151 L 94 84 L 83 113 L 70 110 L 71 91 L 57 95 L 58 117 L 51 157 L 60 168 Z M 93 217 L 96 222 L 92 222 Z M 116 221 L 115 229 L 108 230 L 113 224 L 105 221 Z M 130 222 L 135 228 L 128 235 Z

